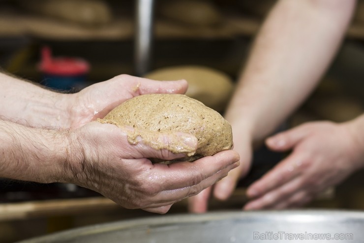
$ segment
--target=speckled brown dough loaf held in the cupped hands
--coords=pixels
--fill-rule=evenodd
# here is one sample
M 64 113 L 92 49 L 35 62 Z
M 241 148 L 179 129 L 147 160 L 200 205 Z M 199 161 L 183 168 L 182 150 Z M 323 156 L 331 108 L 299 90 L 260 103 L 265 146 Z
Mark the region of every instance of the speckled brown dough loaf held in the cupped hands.
M 101 123 L 110 123 L 119 127 L 133 127 L 127 135 L 130 144 L 143 142 L 154 149 L 168 149 L 173 153 L 184 153 L 187 157 L 177 161 L 152 162 L 170 164 L 178 161 L 194 161 L 213 155 L 219 151 L 231 149 L 233 136 L 231 126 L 218 112 L 199 101 L 179 94 L 149 94 L 134 97 L 110 111 Z M 172 139 L 168 146 L 159 142 L 155 133 L 175 134 L 182 132 L 194 135 L 198 139 L 196 153 L 194 149 L 181 143 L 181 139 Z

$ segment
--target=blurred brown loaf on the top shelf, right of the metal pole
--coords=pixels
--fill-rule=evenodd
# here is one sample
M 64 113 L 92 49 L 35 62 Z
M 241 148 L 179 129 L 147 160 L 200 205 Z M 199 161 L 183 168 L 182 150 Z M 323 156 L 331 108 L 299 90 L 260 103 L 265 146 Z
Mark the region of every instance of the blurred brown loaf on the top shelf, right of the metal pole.
M 213 26 L 222 22 L 218 9 L 204 0 L 166 0 L 157 7 L 160 15 L 193 26 Z

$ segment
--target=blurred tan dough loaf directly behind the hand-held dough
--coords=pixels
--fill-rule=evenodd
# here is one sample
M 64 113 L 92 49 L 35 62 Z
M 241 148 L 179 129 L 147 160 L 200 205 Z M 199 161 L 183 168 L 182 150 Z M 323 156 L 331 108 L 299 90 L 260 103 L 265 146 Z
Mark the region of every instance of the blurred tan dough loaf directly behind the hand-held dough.
M 232 95 L 234 85 L 225 73 L 202 66 L 177 66 L 157 69 L 145 75 L 154 80 L 188 82 L 186 95 L 222 112 Z

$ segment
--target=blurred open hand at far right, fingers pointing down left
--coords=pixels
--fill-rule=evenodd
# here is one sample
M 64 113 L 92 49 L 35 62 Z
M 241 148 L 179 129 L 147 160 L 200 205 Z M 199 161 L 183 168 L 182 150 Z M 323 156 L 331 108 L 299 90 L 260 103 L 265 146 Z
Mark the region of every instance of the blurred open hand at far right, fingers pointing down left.
M 247 210 L 300 207 L 341 182 L 363 161 L 345 123 L 306 123 L 266 143 L 272 150 L 292 152 L 247 189 L 251 198 Z

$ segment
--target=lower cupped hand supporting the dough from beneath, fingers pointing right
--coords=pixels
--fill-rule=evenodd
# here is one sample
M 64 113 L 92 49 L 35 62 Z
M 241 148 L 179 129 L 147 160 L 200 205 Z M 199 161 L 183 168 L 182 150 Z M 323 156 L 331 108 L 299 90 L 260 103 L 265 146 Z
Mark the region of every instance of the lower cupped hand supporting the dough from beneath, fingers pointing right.
M 140 137 L 127 141 L 132 128 L 91 122 L 69 135 L 67 167 L 70 182 L 97 191 L 125 208 L 165 213 L 176 202 L 211 186 L 239 165 L 239 155 L 223 151 L 213 156 L 171 165 L 152 164 L 147 158 L 172 160 L 185 156 L 168 151 L 176 136 L 155 133 L 162 149 L 155 150 Z M 197 139 L 179 134 L 181 142 L 196 148 Z

